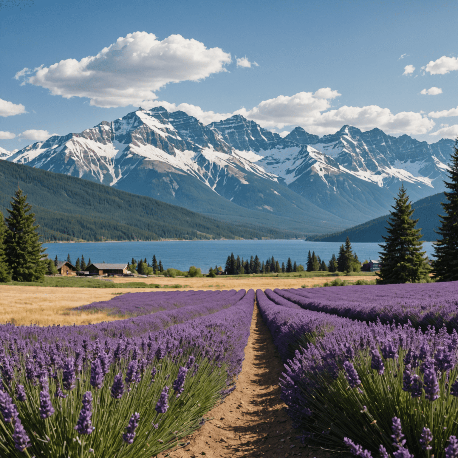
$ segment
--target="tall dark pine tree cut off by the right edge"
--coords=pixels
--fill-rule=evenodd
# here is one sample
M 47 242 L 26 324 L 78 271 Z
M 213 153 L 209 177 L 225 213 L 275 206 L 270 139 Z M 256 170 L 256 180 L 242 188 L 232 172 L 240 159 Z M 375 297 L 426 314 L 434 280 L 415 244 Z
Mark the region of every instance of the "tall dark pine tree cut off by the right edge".
M 441 238 L 434 246 L 436 259 L 432 262 L 433 277 L 439 282 L 458 280 L 458 138 L 454 149 L 447 173 L 450 182 L 444 181 L 449 191 L 444 192 L 448 202 L 442 203 L 445 215 L 440 215 L 441 227 L 437 230 Z

